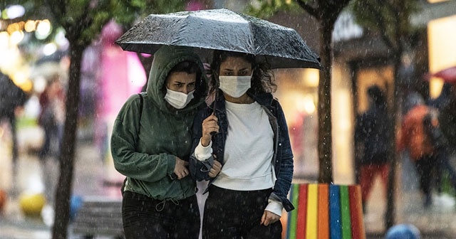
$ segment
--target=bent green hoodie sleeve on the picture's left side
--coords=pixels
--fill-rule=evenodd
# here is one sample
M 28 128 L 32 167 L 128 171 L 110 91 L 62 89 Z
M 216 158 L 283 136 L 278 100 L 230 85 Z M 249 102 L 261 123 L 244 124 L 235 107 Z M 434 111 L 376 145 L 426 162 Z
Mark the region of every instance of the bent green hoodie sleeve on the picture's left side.
M 173 173 L 176 159 L 172 154 L 138 152 L 140 99 L 133 95 L 115 119 L 111 136 L 111 154 L 115 169 L 125 176 L 142 181 L 159 181 Z

